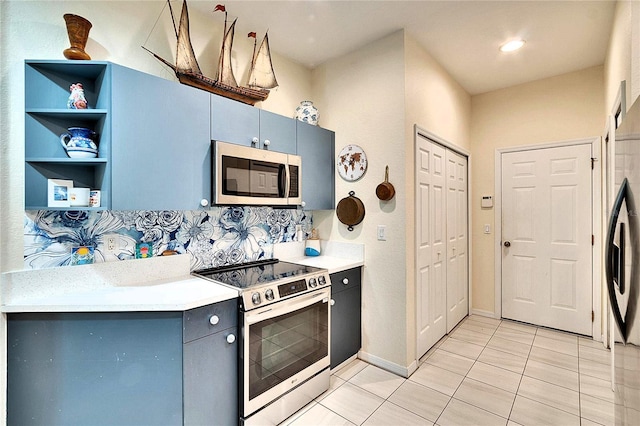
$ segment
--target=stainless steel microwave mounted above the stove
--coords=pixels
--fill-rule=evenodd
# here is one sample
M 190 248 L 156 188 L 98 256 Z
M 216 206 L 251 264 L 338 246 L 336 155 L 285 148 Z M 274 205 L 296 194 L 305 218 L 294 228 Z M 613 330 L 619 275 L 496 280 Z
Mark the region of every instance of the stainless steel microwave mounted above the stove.
M 302 158 L 213 141 L 215 203 L 297 206 L 302 203 Z

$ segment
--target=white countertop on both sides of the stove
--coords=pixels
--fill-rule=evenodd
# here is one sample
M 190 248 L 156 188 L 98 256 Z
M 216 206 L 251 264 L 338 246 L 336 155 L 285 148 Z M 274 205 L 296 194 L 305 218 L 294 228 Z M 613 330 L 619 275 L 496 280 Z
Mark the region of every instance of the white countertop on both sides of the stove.
M 362 244 L 321 242 L 274 246 L 280 260 L 335 273 L 364 265 Z M 188 255 L 7 272 L 0 276 L 2 312 L 184 311 L 238 297 L 238 290 L 190 275 Z

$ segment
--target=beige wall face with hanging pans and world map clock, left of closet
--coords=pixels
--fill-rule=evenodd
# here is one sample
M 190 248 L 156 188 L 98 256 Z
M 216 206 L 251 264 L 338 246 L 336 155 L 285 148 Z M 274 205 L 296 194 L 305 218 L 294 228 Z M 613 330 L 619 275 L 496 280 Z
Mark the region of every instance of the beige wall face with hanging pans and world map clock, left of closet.
M 356 144 L 368 160 L 367 172 L 356 182 L 336 175 L 336 202 L 354 191 L 365 205 L 363 222 L 349 232 L 334 211 L 322 211 L 314 213 L 314 223 L 322 239 L 365 245 L 363 351 L 401 367 L 407 360 L 403 58 L 404 35 L 396 32 L 313 71 L 320 125 L 336 132 L 336 153 Z M 383 203 L 375 188 L 386 165 L 397 191 Z M 376 239 L 377 225 L 387 227 L 387 241 Z

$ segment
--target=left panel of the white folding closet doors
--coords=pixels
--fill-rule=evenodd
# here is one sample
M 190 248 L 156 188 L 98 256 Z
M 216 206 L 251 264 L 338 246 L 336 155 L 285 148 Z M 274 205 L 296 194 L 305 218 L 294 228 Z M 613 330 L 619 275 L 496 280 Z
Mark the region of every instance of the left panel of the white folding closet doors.
M 447 332 L 446 151 L 416 140 L 416 316 L 418 358 Z

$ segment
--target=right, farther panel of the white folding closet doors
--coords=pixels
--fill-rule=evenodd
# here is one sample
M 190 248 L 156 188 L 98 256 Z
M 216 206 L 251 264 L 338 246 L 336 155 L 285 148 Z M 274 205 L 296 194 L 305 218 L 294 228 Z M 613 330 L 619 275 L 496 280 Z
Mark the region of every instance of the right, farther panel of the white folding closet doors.
M 447 333 L 469 312 L 467 159 L 447 150 Z

